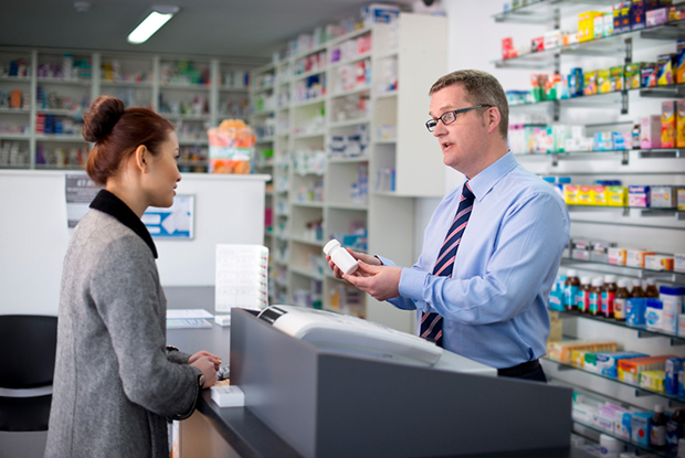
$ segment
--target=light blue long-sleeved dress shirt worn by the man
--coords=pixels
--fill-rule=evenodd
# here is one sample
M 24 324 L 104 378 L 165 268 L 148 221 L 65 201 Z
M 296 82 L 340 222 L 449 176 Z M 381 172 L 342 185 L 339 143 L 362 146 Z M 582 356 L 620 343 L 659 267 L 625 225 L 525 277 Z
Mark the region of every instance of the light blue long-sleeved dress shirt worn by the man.
M 443 348 L 484 364 L 512 368 L 544 356 L 547 298 L 569 239 L 569 215 L 556 190 L 508 152 L 468 181 L 475 194 L 452 277 L 431 275 L 462 187 L 438 205 L 417 264 L 402 268 L 400 309 L 443 316 Z M 380 257 L 384 265 L 394 264 Z

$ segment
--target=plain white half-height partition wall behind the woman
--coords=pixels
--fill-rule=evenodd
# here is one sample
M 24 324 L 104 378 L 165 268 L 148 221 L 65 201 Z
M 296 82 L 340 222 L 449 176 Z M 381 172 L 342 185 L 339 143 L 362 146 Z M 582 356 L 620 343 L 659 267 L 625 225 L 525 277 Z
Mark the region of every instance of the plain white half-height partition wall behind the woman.
M 66 227 L 64 172 L 0 171 L 0 315 L 56 315 Z M 194 194 L 194 238 L 155 241 L 164 286 L 214 285 L 218 243 L 264 243 L 267 175 L 185 173 Z

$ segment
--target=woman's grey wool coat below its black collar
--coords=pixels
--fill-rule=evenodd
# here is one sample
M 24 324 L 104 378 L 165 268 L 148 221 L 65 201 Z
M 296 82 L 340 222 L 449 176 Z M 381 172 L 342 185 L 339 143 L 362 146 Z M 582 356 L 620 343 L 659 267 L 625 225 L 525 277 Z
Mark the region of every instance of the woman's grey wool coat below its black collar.
M 168 458 L 166 417 L 192 414 L 201 372 L 186 353 L 166 355 L 167 305 L 154 249 L 98 210 L 74 230 L 45 457 Z

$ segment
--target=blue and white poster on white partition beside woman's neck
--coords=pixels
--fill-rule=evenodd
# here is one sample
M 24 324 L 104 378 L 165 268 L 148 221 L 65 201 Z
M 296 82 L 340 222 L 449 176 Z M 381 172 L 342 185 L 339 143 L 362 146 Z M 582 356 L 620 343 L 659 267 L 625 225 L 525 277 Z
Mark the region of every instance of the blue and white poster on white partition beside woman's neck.
M 148 207 L 143 223 L 154 238 L 192 239 L 194 220 L 194 195 L 177 195 L 168 209 Z

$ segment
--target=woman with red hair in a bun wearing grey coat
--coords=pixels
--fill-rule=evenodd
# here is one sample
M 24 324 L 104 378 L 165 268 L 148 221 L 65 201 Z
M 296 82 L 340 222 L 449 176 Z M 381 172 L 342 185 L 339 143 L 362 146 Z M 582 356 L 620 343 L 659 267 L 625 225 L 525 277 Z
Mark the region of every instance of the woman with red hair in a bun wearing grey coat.
M 64 259 L 46 457 L 169 457 L 167 419 L 190 416 L 221 360 L 166 348 L 157 249 L 140 221 L 181 175 L 173 126 L 101 96 L 84 115 L 86 171 L 105 187 Z

